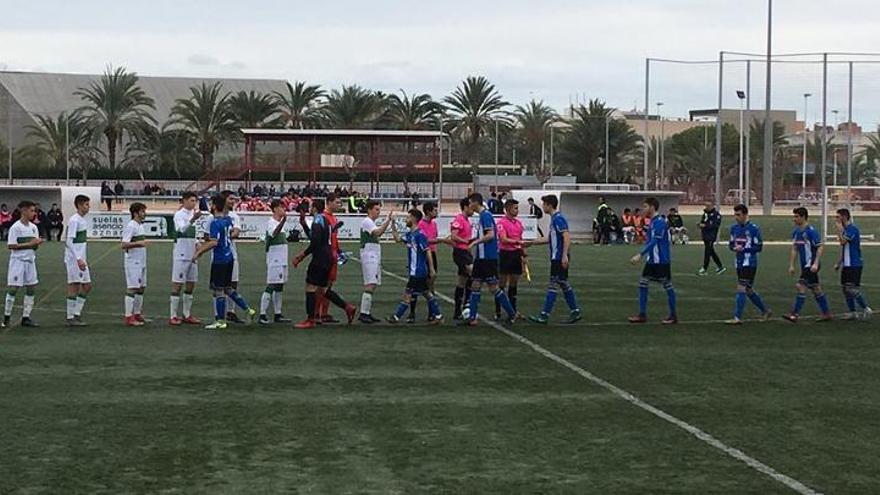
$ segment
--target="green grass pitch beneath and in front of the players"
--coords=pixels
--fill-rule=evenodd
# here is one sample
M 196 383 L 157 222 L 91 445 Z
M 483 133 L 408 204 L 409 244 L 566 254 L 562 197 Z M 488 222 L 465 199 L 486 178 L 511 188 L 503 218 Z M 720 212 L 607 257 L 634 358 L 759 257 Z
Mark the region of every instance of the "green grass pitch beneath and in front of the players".
M 61 246 L 40 248 L 34 317 L 43 326 L 0 335 L 0 493 L 792 493 L 487 325 L 172 329 L 170 250 L 150 246 L 145 308 L 156 320 L 130 329 L 119 244 L 92 243 L 92 325 L 68 331 Z M 263 250 L 239 250 L 241 292 L 256 305 Z M 673 255 L 682 323 L 656 324 L 666 301 L 654 287 L 652 323 L 630 326 L 633 252 L 576 246 L 584 324 L 514 330 L 816 491 L 877 493 L 876 320 L 721 325 L 735 277 L 696 277 L 701 248 L 692 245 Z M 878 248 L 865 254 L 880 259 Z M 758 274 L 777 315 L 794 297 L 787 256 L 768 246 Z M 403 257 L 384 247 L 386 269 L 402 272 Z M 831 257 L 822 278 L 840 312 Z M 440 261 L 439 288 L 451 294 L 448 250 Z M 525 312 L 541 303 L 543 249 L 532 271 L 520 289 Z M 203 264 L 195 312 L 205 319 L 207 274 Z M 291 270 L 285 292 L 296 319 L 303 278 Z M 360 279 L 357 262 L 342 268 L 349 301 L 359 300 Z M 876 264 L 864 282 L 880 304 Z M 377 316 L 392 311 L 402 285 L 385 278 Z M 805 313 L 816 313 L 812 300 Z

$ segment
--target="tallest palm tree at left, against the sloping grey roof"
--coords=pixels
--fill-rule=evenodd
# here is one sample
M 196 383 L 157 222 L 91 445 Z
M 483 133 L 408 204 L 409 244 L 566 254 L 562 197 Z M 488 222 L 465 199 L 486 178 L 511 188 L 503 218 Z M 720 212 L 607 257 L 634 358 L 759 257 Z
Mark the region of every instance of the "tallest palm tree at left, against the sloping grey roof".
M 134 138 L 156 125 L 149 110 L 156 104 L 138 85 L 138 76 L 125 68 L 108 68 L 98 81 L 79 88 L 74 95 L 86 102 L 83 115 L 96 134 L 107 139 L 110 168 L 116 168 L 116 147 L 126 137 Z

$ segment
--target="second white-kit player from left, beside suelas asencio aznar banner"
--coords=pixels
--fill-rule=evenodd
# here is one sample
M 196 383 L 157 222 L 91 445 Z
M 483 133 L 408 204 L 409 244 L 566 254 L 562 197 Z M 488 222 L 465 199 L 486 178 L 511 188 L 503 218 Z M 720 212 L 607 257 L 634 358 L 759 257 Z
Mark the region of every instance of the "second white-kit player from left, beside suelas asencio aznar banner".
M 78 194 L 73 199 L 76 213 L 67 221 L 67 234 L 64 240 L 64 264 L 67 267 L 67 326 L 84 327 L 82 310 L 89 292 L 92 290 L 92 274 L 86 260 L 86 241 L 88 225 L 85 216 L 89 214 L 89 197 Z

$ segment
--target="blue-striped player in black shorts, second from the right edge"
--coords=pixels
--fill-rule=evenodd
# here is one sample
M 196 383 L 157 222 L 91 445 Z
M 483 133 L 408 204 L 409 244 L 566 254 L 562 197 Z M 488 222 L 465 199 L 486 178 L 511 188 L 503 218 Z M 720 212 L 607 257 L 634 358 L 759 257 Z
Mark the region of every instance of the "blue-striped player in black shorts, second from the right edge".
M 795 228 L 791 233 L 791 258 L 789 259 L 788 273 L 796 274 L 794 263 L 800 261 L 801 276 L 797 282 L 798 294 L 794 300 L 794 307 L 792 307 L 791 313 L 784 315 L 783 318 L 797 323 L 807 300 L 807 289 L 810 289 L 813 292 L 813 297 L 816 298 L 819 310 L 822 312 L 816 321 L 831 321 L 833 317 L 828 308 L 828 297 L 822 291 L 822 286 L 819 285 L 819 259 L 825 251 L 822 237 L 809 224 L 809 214 L 806 208 L 802 206 L 795 208 L 792 213 L 794 213 Z

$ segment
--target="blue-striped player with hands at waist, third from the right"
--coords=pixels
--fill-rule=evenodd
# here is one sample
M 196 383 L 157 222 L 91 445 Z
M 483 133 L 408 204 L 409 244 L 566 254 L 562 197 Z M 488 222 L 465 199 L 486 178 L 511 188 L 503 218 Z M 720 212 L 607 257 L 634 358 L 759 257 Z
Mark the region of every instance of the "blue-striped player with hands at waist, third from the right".
M 730 227 L 729 247 L 736 255 L 736 306 L 733 319 L 725 323 L 741 325 L 747 298 L 758 308 L 763 319 L 770 318 L 771 312 L 754 289 L 755 275 L 758 273 L 758 253 L 764 248 L 761 229 L 749 221 L 749 208 L 746 205 L 736 205 L 733 212 L 736 223 Z

